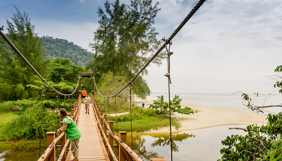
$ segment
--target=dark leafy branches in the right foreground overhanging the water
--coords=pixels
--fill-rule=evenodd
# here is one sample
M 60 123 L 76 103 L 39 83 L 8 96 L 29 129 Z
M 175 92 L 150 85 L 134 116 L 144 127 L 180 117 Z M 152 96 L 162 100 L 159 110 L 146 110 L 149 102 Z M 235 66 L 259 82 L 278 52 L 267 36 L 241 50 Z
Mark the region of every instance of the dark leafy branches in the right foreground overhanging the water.
M 275 72 L 281 72 L 282 65 L 275 69 Z M 270 76 L 274 79 L 274 87 L 276 91 L 282 93 L 281 76 Z M 278 80 L 279 79 L 279 80 Z M 276 92 L 274 91 L 274 92 Z M 241 92 L 242 93 L 242 92 Z M 254 93 L 255 97 L 259 96 L 259 93 Z M 264 95 L 265 96 L 265 95 Z M 256 110 L 257 112 L 263 112 L 267 107 L 282 107 L 281 105 L 261 105 L 255 106 L 255 99 L 250 98 L 248 94 L 242 93 L 243 105 Z M 265 99 L 267 97 L 265 96 Z M 223 155 L 218 161 L 277 161 L 282 159 L 282 113 L 268 114 L 267 125 L 257 126 L 249 125 L 244 129 L 248 131 L 246 136 L 231 135 L 227 136 L 225 140 L 222 140 L 222 144 L 227 146 L 221 149 Z

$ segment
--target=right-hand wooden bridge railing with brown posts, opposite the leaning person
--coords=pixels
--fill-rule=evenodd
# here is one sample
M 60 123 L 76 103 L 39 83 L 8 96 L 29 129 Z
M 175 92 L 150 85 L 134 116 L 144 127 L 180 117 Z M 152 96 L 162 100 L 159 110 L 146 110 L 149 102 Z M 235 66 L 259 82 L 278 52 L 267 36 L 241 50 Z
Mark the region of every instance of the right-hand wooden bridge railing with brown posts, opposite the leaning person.
M 95 117 L 98 122 L 98 127 L 100 129 L 100 134 L 103 136 L 104 144 L 108 146 L 108 156 L 112 161 L 142 161 L 141 158 L 128 146 L 126 145 L 126 133 L 125 131 L 120 131 L 120 137 L 116 136 L 113 131 L 113 121 L 107 123 L 107 115 L 103 115 L 103 110 L 100 110 L 100 106 L 97 103 L 95 97 L 92 95 L 92 108 L 95 112 Z M 109 140 L 107 139 L 107 131 L 109 132 Z M 113 140 L 119 147 L 119 156 L 117 159 L 113 152 Z

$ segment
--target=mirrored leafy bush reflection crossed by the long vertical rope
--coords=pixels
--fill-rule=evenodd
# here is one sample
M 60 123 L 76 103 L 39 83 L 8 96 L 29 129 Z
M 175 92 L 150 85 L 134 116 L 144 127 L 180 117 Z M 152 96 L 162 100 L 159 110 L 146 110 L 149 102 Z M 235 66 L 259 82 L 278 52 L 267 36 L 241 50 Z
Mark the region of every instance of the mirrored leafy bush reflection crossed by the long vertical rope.
M 172 138 L 172 142 L 171 142 L 171 145 L 172 145 L 172 151 L 174 152 L 178 152 L 179 148 L 178 146 L 175 144 L 174 141 L 179 141 L 179 142 L 182 142 L 182 140 L 185 140 L 187 138 L 191 138 L 191 137 L 195 137 L 196 135 L 193 135 L 193 134 L 186 134 L 186 133 L 183 133 L 183 134 L 172 134 L 171 135 L 171 138 Z M 157 138 L 155 136 L 153 136 L 154 138 Z M 170 147 L 170 134 L 165 134 L 165 135 L 162 135 L 161 137 L 158 136 L 158 140 L 156 140 L 155 142 L 153 142 L 151 144 L 152 147 L 155 147 L 155 146 L 169 146 Z

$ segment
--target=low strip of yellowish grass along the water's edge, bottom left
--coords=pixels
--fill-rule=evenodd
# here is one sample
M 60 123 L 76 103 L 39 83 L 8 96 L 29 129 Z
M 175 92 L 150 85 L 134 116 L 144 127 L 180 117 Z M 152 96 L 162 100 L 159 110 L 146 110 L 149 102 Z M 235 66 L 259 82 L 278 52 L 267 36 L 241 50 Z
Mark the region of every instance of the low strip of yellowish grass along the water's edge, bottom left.
M 37 140 L 13 140 L 13 141 L 0 141 L 0 151 L 34 151 L 39 149 L 39 139 Z M 41 140 L 41 148 L 46 148 L 47 142 Z

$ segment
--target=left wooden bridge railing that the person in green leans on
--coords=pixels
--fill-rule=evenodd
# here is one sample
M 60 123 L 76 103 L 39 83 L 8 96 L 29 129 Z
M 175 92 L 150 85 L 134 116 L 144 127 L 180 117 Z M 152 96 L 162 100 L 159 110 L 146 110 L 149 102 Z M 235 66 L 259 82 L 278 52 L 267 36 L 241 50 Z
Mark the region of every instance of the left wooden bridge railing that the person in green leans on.
M 79 95 L 78 100 L 76 100 L 76 103 L 74 104 L 74 107 L 71 110 L 71 114 L 68 114 L 68 116 L 70 116 L 72 120 L 74 120 L 76 125 L 78 125 L 79 123 L 78 116 L 79 116 L 80 107 L 81 107 L 81 96 Z M 63 127 L 63 122 L 60 122 L 60 126 Z M 37 161 L 45 161 L 45 160 L 55 161 L 56 160 L 55 149 L 59 141 L 61 141 L 61 154 L 58 158 L 58 161 L 61 160 L 65 161 L 66 158 L 70 157 L 70 155 L 68 155 L 69 157 L 66 157 L 66 149 L 67 146 L 70 145 L 70 142 L 68 139 L 66 140 L 65 132 L 62 132 L 57 138 L 55 138 L 55 133 L 56 132 L 54 131 L 46 133 L 48 147 Z

